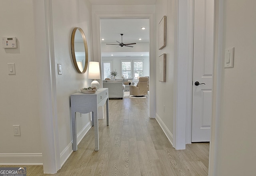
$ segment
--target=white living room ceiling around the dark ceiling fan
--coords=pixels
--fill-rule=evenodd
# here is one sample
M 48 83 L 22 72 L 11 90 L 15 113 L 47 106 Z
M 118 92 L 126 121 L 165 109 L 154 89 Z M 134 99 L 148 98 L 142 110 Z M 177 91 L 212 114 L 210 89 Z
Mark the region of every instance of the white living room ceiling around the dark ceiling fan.
M 122 0 L 121 0 L 122 1 Z M 142 30 L 141 28 L 145 27 L 145 30 Z M 121 41 L 121 35 L 123 35 L 123 43 L 137 43 L 139 45 L 140 43 L 149 43 L 149 20 L 148 19 L 102 19 L 100 20 L 100 33 L 101 38 L 104 38 L 104 41 L 101 41 L 103 45 L 105 44 L 118 44 L 118 42 Z M 141 38 L 142 40 L 138 40 Z M 126 47 L 126 52 L 122 52 L 120 47 L 120 52 L 116 51 L 116 47 L 118 45 L 109 45 L 113 48 L 113 50 L 109 51 L 103 51 L 102 56 L 103 57 L 110 57 L 110 54 L 114 54 L 112 57 L 145 57 L 148 56 L 148 51 L 140 51 L 135 52 L 135 46 L 132 47 Z M 129 51 L 127 51 L 129 49 Z M 114 52 L 113 52 L 114 51 Z M 130 53 L 129 53 L 130 52 Z M 143 54 L 143 56 L 141 55 Z

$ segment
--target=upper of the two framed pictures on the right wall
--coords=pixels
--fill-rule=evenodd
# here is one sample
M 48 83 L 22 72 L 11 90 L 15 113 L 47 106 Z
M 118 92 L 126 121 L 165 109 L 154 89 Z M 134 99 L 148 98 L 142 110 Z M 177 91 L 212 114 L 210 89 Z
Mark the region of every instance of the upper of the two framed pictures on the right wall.
M 166 16 L 158 24 L 158 49 L 166 46 Z

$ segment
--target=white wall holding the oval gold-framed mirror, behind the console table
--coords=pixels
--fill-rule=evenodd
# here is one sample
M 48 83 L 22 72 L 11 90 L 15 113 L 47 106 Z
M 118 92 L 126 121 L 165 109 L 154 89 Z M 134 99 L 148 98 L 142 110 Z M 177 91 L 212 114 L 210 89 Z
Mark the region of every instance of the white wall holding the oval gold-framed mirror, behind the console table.
M 62 64 L 62 75 L 56 69 L 56 93 L 58 111 L 58 134 L 61 162 L 72 151 L 72 129 L 70 115 L 70 94 L 80 91 L 82 87 L 89 87 L 91 80 L 86 73 L 76 71 L 71 55 L 71 34 L 74 27 L 84 31 L 88 44 L 88 59 L 93 60 L 92 51 L 92 15 L 91 4 L 84 0 L 54 0 L 52 1 L 54 57 L 55 67 Z M 86 128 L 87 126 L 87 128 Z M 78 115 L 77 132 L 80 138 L 91 127 L 90 115 Z M 79 142 L 79 139 L 78 139 Z

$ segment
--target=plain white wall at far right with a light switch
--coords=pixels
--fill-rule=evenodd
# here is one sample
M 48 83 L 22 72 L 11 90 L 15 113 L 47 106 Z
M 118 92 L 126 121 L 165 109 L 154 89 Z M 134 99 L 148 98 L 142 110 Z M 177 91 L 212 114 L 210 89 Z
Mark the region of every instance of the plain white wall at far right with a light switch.
M 255 175 L 255 7 L 255 0 L 224 0 L 223 50 L 235 49 L 234 68 L 222 68 L 216 176 Z

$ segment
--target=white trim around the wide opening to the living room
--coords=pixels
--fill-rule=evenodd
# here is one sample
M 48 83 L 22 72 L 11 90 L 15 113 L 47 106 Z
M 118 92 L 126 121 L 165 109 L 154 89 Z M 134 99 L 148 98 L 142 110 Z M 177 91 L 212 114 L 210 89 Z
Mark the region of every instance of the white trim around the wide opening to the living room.
M 100 19 L 149 19 L 150 25 L 150 118 L 155 118 L 156 116 L 156 78 L 155 78 L 155 24 L 154 24 L 154 13 L 95 13 L 94 18 L 92 18 L 92 35 L 93 35 L 93 47 L 94 47 L 94 61 L 101 63 L 101 44 L 100 44 Z M 96 48 L 96 49 L 95 49 Z

